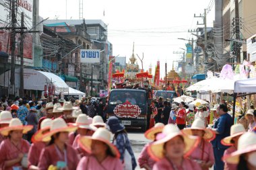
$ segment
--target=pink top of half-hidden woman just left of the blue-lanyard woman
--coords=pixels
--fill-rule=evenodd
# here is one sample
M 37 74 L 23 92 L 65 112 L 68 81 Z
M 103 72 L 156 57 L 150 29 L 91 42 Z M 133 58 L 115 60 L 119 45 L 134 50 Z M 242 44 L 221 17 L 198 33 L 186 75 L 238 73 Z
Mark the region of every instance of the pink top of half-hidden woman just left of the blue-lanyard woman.
M 28 151 L 28 167 L 30 167 L 30 165 L 38 166 L 40 153 L 45 146 L 45 142 L 35 142 L 31 144 L 30 150 Z

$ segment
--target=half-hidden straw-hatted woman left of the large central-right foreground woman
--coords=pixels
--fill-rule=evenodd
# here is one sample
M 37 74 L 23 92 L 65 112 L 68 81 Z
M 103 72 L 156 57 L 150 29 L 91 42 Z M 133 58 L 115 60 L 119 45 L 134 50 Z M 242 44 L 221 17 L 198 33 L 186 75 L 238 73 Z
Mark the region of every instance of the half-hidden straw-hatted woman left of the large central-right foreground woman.
M 153 140 L 153 142 L 156 141 L 156 135 L 162 132 L 162 129 L 164 128 L 164 124 L 162 123 L 156 123 L 153 128 L 150 128 L 145 132 L 145 137 L 148 138 L 149 140 Z M 156 163 L 150 155 L 148 155 L 148 146 L 150 146 L 152 142 L 146 144 L 138 158 L 138 163 L 140 168 L 145 168 L 147 170 L 151 170 Z

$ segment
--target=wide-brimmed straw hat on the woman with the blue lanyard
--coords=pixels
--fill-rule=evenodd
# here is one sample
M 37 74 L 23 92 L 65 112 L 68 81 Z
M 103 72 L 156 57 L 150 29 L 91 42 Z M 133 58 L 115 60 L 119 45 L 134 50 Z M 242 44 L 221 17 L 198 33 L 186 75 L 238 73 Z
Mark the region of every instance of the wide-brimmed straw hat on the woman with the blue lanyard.
M 56 118 L 51 124 L 50 132 L 44 134 L 41 141 L 46 142 L 49 138 L 51 138 L 51 136 L 53 136 L 53 134 L 56 134 L 57 132 L 73 132 L 75 130 L 77 130 L 77 126 L 67 126 L 63 118 Z

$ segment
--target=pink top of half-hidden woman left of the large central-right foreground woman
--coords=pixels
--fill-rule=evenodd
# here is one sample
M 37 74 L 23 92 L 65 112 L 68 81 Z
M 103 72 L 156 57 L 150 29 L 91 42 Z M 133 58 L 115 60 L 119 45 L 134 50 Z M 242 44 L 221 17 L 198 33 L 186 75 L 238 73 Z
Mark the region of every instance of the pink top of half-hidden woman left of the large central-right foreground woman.
M 150 146 L 150 144 L 146 144 L 140 155 L 138 158 L 138 163 L 139 163 L 139 167 L 143 167 L 143 165 L 147 164 L 148 166 L 150 166 L 150 168 L 153 168 L 154 164 L 156 163 L 156 161 L 154 161 L 154 159 L 152 159 L 150 157 L 150 155 L 148 154 L 148 146 Z

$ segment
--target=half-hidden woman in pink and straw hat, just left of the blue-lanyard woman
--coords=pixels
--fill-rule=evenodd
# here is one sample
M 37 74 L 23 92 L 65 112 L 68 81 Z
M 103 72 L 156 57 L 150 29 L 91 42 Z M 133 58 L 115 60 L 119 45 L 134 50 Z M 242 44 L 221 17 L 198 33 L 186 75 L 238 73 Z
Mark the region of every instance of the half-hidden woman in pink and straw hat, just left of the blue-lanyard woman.
M 30 150 L 28 151 L 28 169 L 37 170 L 39 156 L 42 149 L 50 142 L 51 138 L 45 138 L 41 141 L 44 134 L 50 131 L 50 126 L 53 120 L 46 118 L 42 120 L 41 128 L 32 136 L 32 144 Z M 36 155 L 36 156 L 35 156 Z

